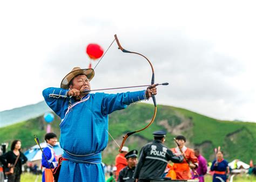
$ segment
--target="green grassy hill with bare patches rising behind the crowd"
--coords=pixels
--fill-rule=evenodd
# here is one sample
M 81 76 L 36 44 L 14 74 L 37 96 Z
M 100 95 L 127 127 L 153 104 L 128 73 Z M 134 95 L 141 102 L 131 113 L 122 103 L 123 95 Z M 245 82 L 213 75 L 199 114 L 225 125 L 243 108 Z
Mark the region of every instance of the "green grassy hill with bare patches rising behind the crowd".
M 151 121 L 153 110 L 152 104 L 138 103 L 112 113 L 109 116 L 110 134 L 120 144 L 127 131 L 141 129 Z M 56 118 L 52 123 L 52 130 L 59 135 L 59 118 Z M 13 139 L 19 138 L 22 140 L 22 148 L 28 149 L 35 145 L 34 134 L 43 141 L 46 123 L 43 116 L 40 116 L 0 130 L 0 143 L 9 142 L 10 145 Z M 170 148 L 176 146 L 172 139 L 174 136 L 186 136 L 186 145 L 201 149 L 207 160 L 212 160 L 214 148 L 221 146 L 225 158 L 230 161 L 236 158 L 246 163 L 250 159 L 256 161 L 256 123 L 220 121 L 189 110 L 159 105 L 154 123 L 146 130 L 129 137 L 126 146 L 140 150 L 143 145 L 152 141 L 152 132 L 155 130 L 168 132 L 165 145 Z M 103 161 L 113 163 L 117 153 L 118 147 L 109 137 L 109 144 L 103 152 Z

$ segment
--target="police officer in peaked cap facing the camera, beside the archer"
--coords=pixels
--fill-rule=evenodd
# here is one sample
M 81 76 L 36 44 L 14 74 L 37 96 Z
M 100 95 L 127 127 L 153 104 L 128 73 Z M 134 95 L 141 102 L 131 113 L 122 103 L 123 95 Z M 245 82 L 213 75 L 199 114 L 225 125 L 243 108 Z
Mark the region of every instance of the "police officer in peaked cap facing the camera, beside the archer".
M 135 167 L 137 165 L 138 151 L 132 150 L 124 156 L 127 161 L 127 166 L 124 167 L 119 173 L 118 182 L 133 182 L 135 179 L 132 177 Z

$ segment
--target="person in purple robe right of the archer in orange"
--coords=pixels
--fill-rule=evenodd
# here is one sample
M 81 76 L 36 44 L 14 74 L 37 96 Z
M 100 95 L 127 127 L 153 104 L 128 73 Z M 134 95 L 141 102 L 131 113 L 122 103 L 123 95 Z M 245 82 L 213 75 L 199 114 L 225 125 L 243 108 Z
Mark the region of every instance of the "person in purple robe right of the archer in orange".
M 199 149 L 194 149 L 194 155 L 198 158 L 197 173 L 199 174 L 199 176 L 192 173 L 192 179 L 199 179 L 199 182 L 204 182 L 204 175 L 207 172 L 207 161 L 203 156 L 200 155 Z

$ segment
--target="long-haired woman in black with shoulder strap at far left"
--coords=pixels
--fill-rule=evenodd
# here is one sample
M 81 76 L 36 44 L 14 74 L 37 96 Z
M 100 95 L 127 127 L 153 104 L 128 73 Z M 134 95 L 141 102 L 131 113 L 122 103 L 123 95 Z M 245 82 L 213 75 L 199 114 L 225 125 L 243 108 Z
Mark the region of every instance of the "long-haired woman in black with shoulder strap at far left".
M 18 158 L 18 159 L 17 159 Z M 17 159 L 17 162 L 16 162 Z M 25 164 L 28 158 L 21 152 L 21 141 L 16 139 L 11 144 L 11 150 L 1 156 L 1 161 L 6 167 L 14 166 L 14 173 L 8 174 L 8 182 L 21 181 L 22 164 Z M 11 170 L 10 170 L 11 171 Z

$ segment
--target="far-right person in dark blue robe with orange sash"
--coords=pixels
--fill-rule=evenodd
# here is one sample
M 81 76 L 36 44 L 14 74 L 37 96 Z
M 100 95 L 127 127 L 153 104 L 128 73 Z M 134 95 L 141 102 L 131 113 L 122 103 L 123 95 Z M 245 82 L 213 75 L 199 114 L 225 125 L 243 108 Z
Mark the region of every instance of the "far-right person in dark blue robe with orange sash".
M 214 171 L 213 182 L 226 182 L 227 174 L 230 173 L 228 162 L 223 158 L 223 152 L 217 152 L 217 159 L 214 159 L 211 166 L 211 171 Z

